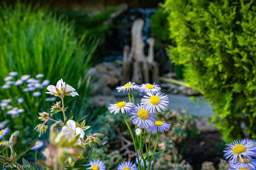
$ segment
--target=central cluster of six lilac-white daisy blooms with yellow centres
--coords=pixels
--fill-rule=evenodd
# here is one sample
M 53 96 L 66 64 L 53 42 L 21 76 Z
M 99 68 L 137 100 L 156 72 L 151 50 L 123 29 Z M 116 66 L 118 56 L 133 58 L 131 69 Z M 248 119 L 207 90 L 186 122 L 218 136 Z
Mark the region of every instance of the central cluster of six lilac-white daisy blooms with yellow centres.
M 110 104 L 108 110 L 111 113 L 117 114 L 129 113 L 130 119 L 134 124 L 148 131 L 165 132 L 170 129 L 171 124 L 165 121 L 157 121 L 156 113 L 162 112 L 168 106 L 168 96 L 162 93 L 161 87 L 158 84 L 143 83 L 141 85 L 135 82 L 127 82 L 122 86 L 116 87 L 117 91 L 132 91 L 137 90 L 146 93 L 141 99 L 141 104 L 135 105 L 133 102 L 119 101 L 115 104 Z M 138 130 L 140 131 L 140 130 Z

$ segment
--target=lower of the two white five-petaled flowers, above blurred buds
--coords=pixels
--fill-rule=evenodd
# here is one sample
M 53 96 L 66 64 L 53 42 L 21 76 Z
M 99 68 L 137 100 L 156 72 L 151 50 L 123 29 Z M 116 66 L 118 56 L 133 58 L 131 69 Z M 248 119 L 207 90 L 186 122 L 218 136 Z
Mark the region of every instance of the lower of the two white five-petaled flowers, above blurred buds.
M 68 141 L 78 134 L 80 134 L 80 138 L 84 137 L 84 131 L 80 127 L 76 127 L 76 122 L 74 120 L 67 121 L 67 126 L 64 125 L 62 127 L 61 134 L 68 136 Z

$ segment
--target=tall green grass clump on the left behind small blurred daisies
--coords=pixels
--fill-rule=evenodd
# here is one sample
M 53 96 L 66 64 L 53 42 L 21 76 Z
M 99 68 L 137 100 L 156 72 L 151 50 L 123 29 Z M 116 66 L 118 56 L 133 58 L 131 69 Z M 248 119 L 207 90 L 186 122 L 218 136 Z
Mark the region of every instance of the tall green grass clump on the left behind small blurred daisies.
M 82 96 L 72 103 L 65 101 L 65 106 L 76 110 L 74 117 L 84 115 L 88 106 L 85 73 L 98 41 L 88 38 L 87 32 L 77 38 L 73 23 L 63 16 L 57 17 L 48 8 L 30 3 L 0 6 L 0 27 L 0 99 L 9 99 L 1 101 L 0 121 L 8 119 L 12 131 L 21 130 L 26 136 L 24 143 L 35 139 L 37 134 L 32 129 L 39 121 L 36 115 L 49 108 L 55 99 L 46 96 L 45 85 L 49 81 L 56 84 L 60 77 L 68 80 Z M 5 78 L 15 71 L 18 74 L 7 81 Z M 23 83 L 17 83 L 24 78 L 22 75 L 34 81 L 31 83 L 25 78 Z M 46 84 L 42 86 L 43 82 Z M 38 86 L 35 83 L 39 83 Z M 34 88 L 29 88 L 31 86 Z M 47 97 L 49 104 L 41 102 Z M 17 102 L 18 99 L 23 102 Z M 10 112 L 14 108 L 24 110 L 14 115 Z

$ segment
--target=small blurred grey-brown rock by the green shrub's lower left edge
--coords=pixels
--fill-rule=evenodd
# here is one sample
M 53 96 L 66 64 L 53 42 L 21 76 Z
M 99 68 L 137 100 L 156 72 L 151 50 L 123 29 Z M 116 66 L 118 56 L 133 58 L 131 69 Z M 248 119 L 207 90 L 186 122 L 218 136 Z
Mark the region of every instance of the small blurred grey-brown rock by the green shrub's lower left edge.
M 195 120 L 196 128 L 201 132 L 217 132 L 218 129 L 213 124 L 209 124 L 207 116 L 198 116 Z

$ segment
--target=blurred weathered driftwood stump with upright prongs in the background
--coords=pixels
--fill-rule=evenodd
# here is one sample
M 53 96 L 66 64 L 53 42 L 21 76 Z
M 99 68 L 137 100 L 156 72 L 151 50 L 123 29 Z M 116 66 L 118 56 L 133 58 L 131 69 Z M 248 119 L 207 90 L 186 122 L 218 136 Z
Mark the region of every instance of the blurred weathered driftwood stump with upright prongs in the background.
M 132 24 L 132 44 L 123 47 L 122 81 L 140 83 L 159 83 L 159 66 L 154 61 L 155 38 L 149 37 L 146 42 L 149 44 L 148 56 L 144 53 L 145 42 L 142 39 L 144 20 L 136 19 Z

